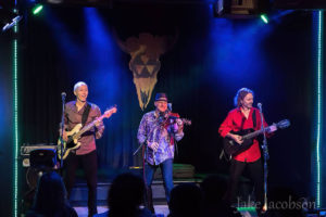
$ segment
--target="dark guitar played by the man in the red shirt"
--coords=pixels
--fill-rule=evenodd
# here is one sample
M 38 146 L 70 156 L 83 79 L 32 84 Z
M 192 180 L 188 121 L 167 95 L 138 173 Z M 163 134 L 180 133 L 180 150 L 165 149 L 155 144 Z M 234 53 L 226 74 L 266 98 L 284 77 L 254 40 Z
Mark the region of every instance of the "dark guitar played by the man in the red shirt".
M 273 127 L 274 126 L 274 127 Z M 278 128 L 284 129 L 290 126 L 290 122 L 288 119 L 284 119 L 277 124 L 273 124 L 265 128 L 265 132 L 273 132 L 276 131 Z M 276 127 L 276 128 L 275 128 Z M 239 135 L 242 137 L 243 142 L 241 144 L 237 143 L 231 138 L 225 137 L 223 140 L 223 146 L 225 154 L 233 156 L 237 155 L 246 150 L 248 150 L 253 144 L 253 138 L 258 137 L 259 135 L 263 133 L 263 130 L 253 130 L 244 129 L 240 131 L 230 131 L 230 133 Z

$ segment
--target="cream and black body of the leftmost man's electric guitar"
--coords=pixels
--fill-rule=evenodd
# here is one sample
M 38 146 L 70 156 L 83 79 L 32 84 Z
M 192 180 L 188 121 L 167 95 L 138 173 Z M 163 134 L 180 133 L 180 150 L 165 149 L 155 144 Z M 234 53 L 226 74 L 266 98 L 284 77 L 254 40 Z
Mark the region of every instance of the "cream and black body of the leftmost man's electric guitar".
M 73 139 L 73 137 L 80 131 L 82 127 L 82 124 L 78 124 L 71 131 L 66 132 L 68 140 L 63 142 L 63 159 L 67 157 L 72 150 L 76 150 L 80 146 L 80 142 L 78 142 L 79 138 Z M 58 157 L 61 159 L 61 139 L 58 140 Z

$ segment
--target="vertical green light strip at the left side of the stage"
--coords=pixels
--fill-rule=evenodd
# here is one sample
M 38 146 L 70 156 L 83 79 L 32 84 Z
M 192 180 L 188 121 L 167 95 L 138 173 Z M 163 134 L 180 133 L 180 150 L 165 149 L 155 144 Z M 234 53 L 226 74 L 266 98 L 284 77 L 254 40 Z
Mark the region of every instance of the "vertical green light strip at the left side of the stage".
M 14 33 L 17 35 L 18 27 L 14 26 Z M 14 145 L 13 145 L 13 216 L 18 216 L 18 44 L 17 39 L 13 40 L 13 115 L 14 115 Z

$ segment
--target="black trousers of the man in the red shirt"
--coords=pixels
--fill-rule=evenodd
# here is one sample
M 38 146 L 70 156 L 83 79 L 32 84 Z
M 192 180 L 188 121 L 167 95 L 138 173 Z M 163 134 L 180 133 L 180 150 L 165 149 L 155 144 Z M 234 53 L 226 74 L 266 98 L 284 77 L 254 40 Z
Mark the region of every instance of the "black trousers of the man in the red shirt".
M 263 206 L 264 202 L 264 175 L 261 158 L 252 163 L 231 159 L 228 187 L 224 195 L 224 200 L 229 204 L 234 202 L 240 176 L 246 167 L 248 167 L 251 180 L 254 184 L 255 202 L 258 208 L 260 209 Z

